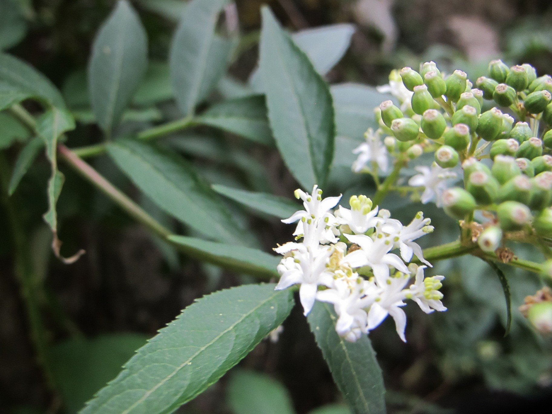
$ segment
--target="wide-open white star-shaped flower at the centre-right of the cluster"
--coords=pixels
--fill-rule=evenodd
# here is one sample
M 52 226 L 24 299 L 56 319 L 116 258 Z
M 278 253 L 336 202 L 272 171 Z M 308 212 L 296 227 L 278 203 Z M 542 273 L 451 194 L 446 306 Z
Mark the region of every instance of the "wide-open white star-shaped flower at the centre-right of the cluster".
M 401 272 L 410 273 L 399 256 L 389 253 L 393 248 L 393 243 L 390 240 L 381 237 L 374 241 L 371 237 L 365 235 L 346 234 L 345 237 L 352 243 L 359 245 L 360 249 L 347 254 L 343 260 L 351 264 L 353 268 L 370 266 L 380 287 L 383 287 L 389 279 L 389 266 Z

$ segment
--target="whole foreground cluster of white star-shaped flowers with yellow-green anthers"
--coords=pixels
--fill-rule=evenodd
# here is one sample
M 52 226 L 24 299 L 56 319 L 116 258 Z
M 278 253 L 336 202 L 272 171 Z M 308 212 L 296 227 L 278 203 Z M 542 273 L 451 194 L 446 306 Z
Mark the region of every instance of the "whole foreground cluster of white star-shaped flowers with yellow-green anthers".
M 415 240 L 432 232 L 433 226 L 421 212 L 404 226 L 391 219 L 389 210 L 373 207 L 364 195 L 351 197 L 351 209 L 340 205 L 335 211 L 341 196 L 322 199 L 317 185 L 312 194 L 295 190 L 295 196 L 303 200 L 305 210 L 282 220 L 298 224 L 293 233 L 296 241 L 274 249 L 284 256 L 276 289 L 300 284 L 305 315 L 315 300 L 333 304 L 336 331 L 351 342 L 391 315 L 397 333 L 406 341 L 406 315 L 401 309 L 405 299 L 416 301 L 426 313 L 447 309 L 439 292 L 444 277 L 424 277 L 424 269 L 431 264 Z M 391 253 L 395 249 L 400 257 Z M 407 267 L 413 256 L 427 266 Z

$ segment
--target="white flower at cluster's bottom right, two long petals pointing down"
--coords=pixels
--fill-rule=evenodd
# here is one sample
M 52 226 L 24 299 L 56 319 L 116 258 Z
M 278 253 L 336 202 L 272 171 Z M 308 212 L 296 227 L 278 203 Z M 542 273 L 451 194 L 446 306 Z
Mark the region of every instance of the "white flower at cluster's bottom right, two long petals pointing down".
M 403 342 L 406 342 L 405 327 L 406 327 L 406 314 L 401 309 L 401 306 L 405 306 L 405 291 L 403 290 L 410 276 L 407 274 L 398 273 L 395 277 L 389 278 L 389 282 L 384 286 L 383 293 L 379 296 L 379 300 L 375 301 L 368 311 L 368 330 L 373 330 L 376 326 L 379 326 L 381 322 L 391 315 L 395 320 L 395 328 L 399 337 Z

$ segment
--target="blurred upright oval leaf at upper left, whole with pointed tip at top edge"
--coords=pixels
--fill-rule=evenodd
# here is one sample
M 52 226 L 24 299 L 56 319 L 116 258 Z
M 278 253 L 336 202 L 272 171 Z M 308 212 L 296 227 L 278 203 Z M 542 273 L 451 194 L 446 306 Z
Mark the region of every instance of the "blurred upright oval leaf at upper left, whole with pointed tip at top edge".
M 88 65 L 92 109 L 104 131 L 119 123 L 146 67 L 146 31 L 129 2 L 119 0 L 94 40 Z

